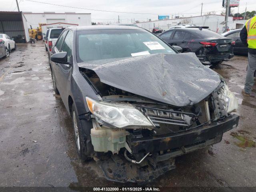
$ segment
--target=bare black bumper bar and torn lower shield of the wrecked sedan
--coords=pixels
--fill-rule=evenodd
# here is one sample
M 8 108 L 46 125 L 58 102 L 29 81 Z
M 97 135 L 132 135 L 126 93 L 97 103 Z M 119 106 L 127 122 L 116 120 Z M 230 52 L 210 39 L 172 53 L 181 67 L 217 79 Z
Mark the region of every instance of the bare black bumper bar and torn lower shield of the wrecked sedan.
M 118 182 L 149 182 L 175 168 L 174 158 L 222 140 L 224 132 L 238 126 L 239 116 L 232 114 L 224 119 L 213 121 L 209 125 L 199 126 L 192 130 L 176 134 L 166 134 L 148 138 L 132 138 L 127 136 L 128 146 L 132 154 L 140 152 L 167 151 L 154 153 L 145 160 L 147 166 L 132 164 L 122 155 L 114 155 L 106 160 L 98 160 L 108 180 Z

